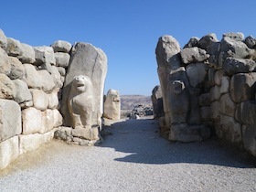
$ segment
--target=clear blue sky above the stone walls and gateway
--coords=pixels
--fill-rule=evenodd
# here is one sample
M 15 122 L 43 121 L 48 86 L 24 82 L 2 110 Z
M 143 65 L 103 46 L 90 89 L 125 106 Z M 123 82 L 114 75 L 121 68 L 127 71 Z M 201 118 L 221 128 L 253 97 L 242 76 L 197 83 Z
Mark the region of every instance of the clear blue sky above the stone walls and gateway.
M 256 37 L 255 8 L 255 0 L 13 0 L 1 2 L 0 28 L 31 46 L 91 43 L 108 57 L 105 92 L 151 95 L 159 37 L 171 35 L 181 47 L 208 33 Z

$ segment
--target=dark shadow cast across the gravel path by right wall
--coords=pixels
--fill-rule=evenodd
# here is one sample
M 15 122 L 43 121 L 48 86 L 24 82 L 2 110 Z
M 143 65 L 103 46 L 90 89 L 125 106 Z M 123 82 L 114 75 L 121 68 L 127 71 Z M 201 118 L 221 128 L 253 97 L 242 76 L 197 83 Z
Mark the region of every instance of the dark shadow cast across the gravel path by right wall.
M 152 119 L 127 120 L 105 127 L 101 147 L 127 153 L 115 161 L 139 164 L 203 164 L 238 168 L 256 167 L 256 158 L 211 138 L 206 142 L 174 143 L 162 138 L 158 122 Z

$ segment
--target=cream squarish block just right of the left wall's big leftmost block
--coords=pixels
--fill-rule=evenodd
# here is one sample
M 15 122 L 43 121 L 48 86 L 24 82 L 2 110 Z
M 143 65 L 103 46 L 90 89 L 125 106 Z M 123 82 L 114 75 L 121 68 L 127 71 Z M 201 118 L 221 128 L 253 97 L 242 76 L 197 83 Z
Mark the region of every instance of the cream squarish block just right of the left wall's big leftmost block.
M 22 133 L 39 133 L 42 127 L 42 112 L 34 107 L 22 111 Z

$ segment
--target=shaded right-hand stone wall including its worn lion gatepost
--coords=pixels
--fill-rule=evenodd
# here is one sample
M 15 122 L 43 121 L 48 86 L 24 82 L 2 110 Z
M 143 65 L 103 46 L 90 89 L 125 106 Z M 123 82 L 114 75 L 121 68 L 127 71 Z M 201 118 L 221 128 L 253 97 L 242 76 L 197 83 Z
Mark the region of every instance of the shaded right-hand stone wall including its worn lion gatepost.
M 155 54 L 163 95 L 156 87 L 152 101 L 161 133 L 179 142 L 215 133 L 256 156 L 256 39 L 227 33 L 219 41 L 208 34 L 180 48 L 163 36 Z

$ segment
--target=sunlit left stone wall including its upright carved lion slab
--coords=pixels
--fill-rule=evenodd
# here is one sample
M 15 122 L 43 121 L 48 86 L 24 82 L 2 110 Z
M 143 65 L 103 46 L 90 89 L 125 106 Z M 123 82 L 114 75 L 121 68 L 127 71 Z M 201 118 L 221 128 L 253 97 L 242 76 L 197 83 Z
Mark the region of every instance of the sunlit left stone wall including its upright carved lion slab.
M 99 142 L 106 73 L 106 55 L 91 44 L 32 47 L 0 29 L 0 170 L 54 136 Z

